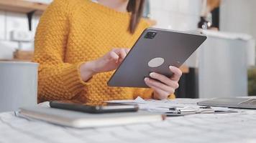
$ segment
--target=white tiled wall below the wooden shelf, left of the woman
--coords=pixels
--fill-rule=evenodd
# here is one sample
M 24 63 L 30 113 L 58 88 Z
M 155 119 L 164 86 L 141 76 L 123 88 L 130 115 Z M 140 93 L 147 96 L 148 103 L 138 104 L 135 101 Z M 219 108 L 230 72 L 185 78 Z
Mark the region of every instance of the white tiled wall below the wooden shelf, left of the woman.
M 52 0 L 27 0 L 49 4 Z M 35 35 L 39 16 L 33 16 L 32 33 Z M 16 42 L 11 41 L 11 31 L 29 31 L 26 14 L 0 10 L 0 59 L 12 59 L 12 52 L 16 49 L 33 50 L 34 41 Z

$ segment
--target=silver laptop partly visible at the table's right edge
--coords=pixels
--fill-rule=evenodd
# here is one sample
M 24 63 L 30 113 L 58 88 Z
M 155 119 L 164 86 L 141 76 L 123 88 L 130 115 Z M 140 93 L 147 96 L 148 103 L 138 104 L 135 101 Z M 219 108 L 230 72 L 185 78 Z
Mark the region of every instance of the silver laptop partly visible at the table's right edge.
M 198 102 L 201 106 L 210 107 L 232 107 L 243 109 L 256 109 L 256 99 L 250 98 L 216 98 L 204 102 Z

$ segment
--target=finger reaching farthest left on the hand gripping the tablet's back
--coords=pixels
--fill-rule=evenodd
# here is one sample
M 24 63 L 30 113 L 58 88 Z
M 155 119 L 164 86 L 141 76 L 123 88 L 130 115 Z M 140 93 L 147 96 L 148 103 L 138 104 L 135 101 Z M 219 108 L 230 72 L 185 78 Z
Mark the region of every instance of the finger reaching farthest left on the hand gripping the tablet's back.
M 157 82 L 154 79 L 145 78 L 145 83 L 151 85 L 152 87 L 157 87 L 157 89 L 162 89 L 163 91 L 168 92 L 168 94 L 173 94 L 175 91 L 173 87 L 168 87 L 167 85 Z

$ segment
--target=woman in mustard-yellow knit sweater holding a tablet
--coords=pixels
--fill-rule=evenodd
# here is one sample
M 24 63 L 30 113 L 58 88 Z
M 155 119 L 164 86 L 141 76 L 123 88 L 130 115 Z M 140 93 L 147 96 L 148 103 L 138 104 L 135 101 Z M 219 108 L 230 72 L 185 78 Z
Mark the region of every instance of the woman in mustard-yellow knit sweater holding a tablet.
M 106 82 L 129 48 L 149 25 L 144 0 L 55 0 L 42 15 L 35 36 L 39 102 L 173 98 L 180 69 L 173 77 L 151 73 L 150 89 L 107 87 Z M 119 48 L 127 47 L 127 48 Z M 134 71 L 136 72 L 136 71 Z M 157 82 L 157 80 L 161 82 Z

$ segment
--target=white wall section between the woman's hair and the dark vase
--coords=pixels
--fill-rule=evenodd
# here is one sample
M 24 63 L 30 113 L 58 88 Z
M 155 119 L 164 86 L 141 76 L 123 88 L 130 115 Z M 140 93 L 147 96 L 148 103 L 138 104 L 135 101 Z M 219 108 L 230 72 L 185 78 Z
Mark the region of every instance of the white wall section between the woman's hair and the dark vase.
M 156 27 L 193 31 L 201 14 L 201 0 L 150 0 L 150 10 Z

